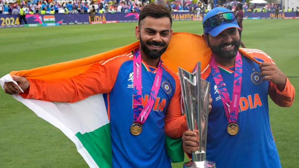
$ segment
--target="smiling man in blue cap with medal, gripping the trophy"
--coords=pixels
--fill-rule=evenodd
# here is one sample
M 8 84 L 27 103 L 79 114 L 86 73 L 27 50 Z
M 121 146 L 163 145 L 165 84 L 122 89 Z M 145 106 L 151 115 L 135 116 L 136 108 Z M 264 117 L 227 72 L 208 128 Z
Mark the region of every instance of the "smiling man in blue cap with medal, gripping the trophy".
M 281 167 L 270 127 L 268 95 L 290 107 L 295 89 L 272 58 L 258 49 L 239 49 L 236 14 L 213 8 L 202 21 L 206 45 L 212 50 L 201 74 L 211 83 L 212 110 L 208 117 L 206 159 L 217 168 Z M 198 150 L 196 133 L 183 134 L 191 158 Z

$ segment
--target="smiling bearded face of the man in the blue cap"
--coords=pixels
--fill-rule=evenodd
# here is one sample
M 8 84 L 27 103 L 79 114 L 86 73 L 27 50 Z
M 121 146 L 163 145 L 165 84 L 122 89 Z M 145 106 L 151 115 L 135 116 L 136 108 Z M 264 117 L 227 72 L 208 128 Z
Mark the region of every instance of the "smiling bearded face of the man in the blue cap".
M 207 46 L 220 58 L 232 59 L 237 55 L 240 47 L 240 35 L 237 28 L 228 28 L 213 37 L 209 34 L 202 35 Z

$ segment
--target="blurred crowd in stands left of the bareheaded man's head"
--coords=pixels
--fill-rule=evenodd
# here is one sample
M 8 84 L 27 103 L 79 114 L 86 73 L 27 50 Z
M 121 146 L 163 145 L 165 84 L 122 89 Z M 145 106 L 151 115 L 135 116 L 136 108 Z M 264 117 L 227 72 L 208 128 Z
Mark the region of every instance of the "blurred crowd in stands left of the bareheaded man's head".
M 3 5 L 4 14 L 11 14 L 13 9 L 19 10 L 21 5 L 25 7 L 26 13 L 87 13 L 92 7 L 96 13 L 116 13 L 116 12 L 139 12 L 141 8 L 148 4 L 149 1 L 121 1 L 119 4 L 116 1 L 109 0 L 54 0 L 54 1 L 41 1 L 41 0 L 20 0 L 14 2 L 7 2 L 0 0 Z

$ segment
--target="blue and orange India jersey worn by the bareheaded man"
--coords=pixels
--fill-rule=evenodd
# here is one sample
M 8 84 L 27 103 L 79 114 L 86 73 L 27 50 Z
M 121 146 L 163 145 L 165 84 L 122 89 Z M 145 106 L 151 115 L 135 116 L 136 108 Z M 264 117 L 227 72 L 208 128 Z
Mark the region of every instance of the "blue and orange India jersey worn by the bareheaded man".
M 164 130 L 187 130 L 186 118 L 180 106 L 180 82 L 175 72 L 162 63 L 159 92 L 142 132 L 130 133 L 133 124 L 133 54 L 124 54 L 95 63 L 85 73 L 68 79 L 42 81 L 29 79 L 24 98 L 46 101 L 77 102 L 91 95 L 103 94 L 110 120 L 112 167 L 171 167 L 165 149 L 165 133 L 171 138 L 178 134 Z M 142 61 L 142 105 L 150 98 L 156 68 Z

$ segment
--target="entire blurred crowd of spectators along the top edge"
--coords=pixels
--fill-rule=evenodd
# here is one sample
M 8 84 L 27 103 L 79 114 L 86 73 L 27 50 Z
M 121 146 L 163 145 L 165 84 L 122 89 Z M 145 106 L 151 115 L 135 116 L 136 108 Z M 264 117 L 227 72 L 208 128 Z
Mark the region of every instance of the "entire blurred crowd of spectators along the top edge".
M 142 7 L 147 5 L 149 1 L 145 0 L 0 0 L 0 14 L 17 14 L 20 7 L 24 7 L 25 13 L 29 14 L 55 14 L 55 13 L 88 13 L 92 9 L 95 13 L 117 13 L 117 12 L 139 12 Z M 173 12 L 208 12 L 214 4 L 203 5 L 201 3 L 181 3 L 166 2 L 166 5 L 172 9 Z M 222 6 L 234 11 L 236 4 L 216 5 Z M 243 12 L 276 12 L 280 9 L 277 4 L 268 3 L 263 7 L 254 6 L 253 4 L 243 4 Z M 297 9 L 287 9 L 282 12 L 297 12 Z

